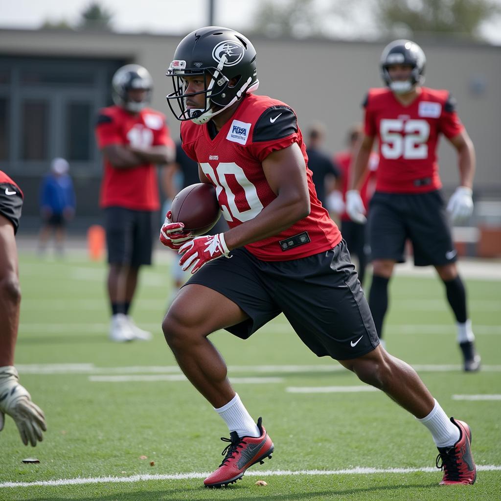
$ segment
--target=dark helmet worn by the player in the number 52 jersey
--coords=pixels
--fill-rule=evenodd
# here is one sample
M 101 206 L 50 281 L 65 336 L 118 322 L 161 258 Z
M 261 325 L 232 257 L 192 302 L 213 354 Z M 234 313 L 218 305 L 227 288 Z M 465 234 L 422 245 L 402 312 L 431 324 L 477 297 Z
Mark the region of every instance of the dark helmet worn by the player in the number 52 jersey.
M 388 66 L 405 64 L 412 66 L 409 80 L 393 81 L 388 73 Z M 426 57 L 421 47 L 410 40 L 395 40 L 388 44 L 381 54 L 381 77 L 384 83 L 396 94 L 405 94 L 412 88 L 424 83 L 424 67 Z

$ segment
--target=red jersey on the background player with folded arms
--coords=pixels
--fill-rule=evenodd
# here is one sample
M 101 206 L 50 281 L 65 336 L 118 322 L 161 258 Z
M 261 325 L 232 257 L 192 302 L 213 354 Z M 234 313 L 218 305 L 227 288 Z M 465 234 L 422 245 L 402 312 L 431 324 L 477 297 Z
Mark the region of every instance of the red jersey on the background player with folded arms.
M 174 147 L 165 125 L 165 116 L 148 108 L 138 114 L 129 113 L 119 106 L 103 108 L 99 112 L 96 138 L 100 149 L 110 144 Z M 117 168 L 105 158 L 100 206 L 157 210 L 160 202 L 155 165 L 143 163 L 135 167 Z

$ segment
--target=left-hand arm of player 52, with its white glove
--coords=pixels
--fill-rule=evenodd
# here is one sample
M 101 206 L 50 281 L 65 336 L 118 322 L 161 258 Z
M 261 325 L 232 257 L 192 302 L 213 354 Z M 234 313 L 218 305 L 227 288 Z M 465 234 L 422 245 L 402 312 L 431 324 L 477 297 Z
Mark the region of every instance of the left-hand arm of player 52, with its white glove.
M 363 135 L 358 147 L 353 155 L 350 168 L 350 179 L 348 181 L 348 191 L 346 192 L 346 212 L 350 218 L 358 223 L 364 223 L 365 207 L 360 197 L 360 187 L 367 174 L 369 156 L 374 144 L 374 137 Z

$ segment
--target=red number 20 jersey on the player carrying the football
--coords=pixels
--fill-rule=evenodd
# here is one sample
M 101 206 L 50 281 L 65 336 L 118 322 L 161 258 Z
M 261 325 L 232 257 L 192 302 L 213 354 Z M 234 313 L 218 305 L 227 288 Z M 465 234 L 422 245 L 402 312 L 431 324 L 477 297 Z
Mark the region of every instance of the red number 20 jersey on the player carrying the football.
M 230 228 L 254 219 L 277 195 L 262 162 L 273 151 L 297 143 L 308 163 L 297 117 L 287 104 L 248 94 L 214 139 L 208 125 L 181 124 L 183 149 L 197 161 L 215 186 L 219 206 Z M 322 207 L 306 167 L 310 215 L 275 236 L 245 245 L 263 261 L 289 261 L 323 252 L 341 241 L 341 233 Z M 292 239 L 295 237 L 294 239 Z

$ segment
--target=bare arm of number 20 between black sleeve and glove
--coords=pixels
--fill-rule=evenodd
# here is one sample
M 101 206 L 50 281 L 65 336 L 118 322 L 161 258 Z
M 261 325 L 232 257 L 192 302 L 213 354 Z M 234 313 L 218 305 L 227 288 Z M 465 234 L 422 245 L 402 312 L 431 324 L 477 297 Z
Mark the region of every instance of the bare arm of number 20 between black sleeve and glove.
M 263 170 L 277 198 L 254 219 L 224 233 L 229 249 L 276 235 L 310 213 L 306 165 L 296 143 L 268 155 Z

